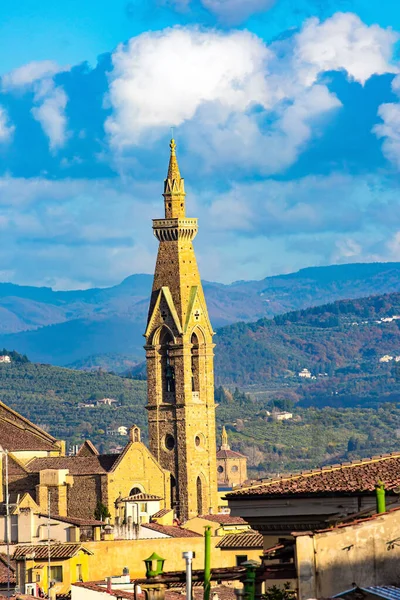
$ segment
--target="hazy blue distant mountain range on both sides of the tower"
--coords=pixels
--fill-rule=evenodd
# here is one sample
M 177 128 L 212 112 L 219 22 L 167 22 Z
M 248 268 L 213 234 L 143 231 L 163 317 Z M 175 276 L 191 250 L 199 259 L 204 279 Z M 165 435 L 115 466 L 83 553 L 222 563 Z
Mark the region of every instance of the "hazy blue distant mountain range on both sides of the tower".
M 125 369 L 143 359 L 151 275 L 69 292 L 0 284 L 0 346 L 36 362 Z M 400 263 L 311 267 L 261 281 L 204 282 L 214 327 L 400 291 Z M 218 340 L 216 340 L 218 342 Z

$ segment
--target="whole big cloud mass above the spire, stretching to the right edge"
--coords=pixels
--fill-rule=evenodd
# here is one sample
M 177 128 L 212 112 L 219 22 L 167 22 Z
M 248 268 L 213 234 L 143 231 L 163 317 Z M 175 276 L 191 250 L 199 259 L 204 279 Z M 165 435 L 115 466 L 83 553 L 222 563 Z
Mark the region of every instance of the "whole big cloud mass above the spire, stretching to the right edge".
M 123 151 L 179 126 L 206 169 L 229 164 L 280 172 L 297 159 L 314 124 L 340 106 L 319 74 L 344 70 L 365 83 L 394 72 L 396 39 L 351 13 L 310 19 L 269 47 L 246 31 L 174 28 L 140 35 L 113 55 L 111 145 Z

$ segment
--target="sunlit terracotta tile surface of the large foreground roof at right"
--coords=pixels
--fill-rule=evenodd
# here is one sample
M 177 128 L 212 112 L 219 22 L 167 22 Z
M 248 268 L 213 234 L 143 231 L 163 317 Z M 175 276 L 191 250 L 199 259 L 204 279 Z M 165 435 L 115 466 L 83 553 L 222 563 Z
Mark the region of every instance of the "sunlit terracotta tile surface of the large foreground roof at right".
M 229 492 L 227 497 L 234 500 L 242 496 L 372 493 L 378 481 L 388 491 L 400 486 L 400 453 L 261 481 Z

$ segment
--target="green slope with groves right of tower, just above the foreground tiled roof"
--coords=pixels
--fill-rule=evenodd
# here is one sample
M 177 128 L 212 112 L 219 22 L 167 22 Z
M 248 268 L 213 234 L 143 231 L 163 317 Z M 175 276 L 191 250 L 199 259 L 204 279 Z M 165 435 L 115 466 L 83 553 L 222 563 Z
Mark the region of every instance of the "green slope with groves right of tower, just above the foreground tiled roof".
M 249 458 L 253 478 L 314 469 L 399 448 L 400 406 L 395 403 L 374 408 L 279 406 L 279 410 L 291 410 L 293 418 L 276 421 L 274 402 L 255 402 L 246 395 L 248 401 L 238 409 L 231 392 L 226 391 L 226 397 L 218 407 L 218 422 L 225 424 L 232 449 Z

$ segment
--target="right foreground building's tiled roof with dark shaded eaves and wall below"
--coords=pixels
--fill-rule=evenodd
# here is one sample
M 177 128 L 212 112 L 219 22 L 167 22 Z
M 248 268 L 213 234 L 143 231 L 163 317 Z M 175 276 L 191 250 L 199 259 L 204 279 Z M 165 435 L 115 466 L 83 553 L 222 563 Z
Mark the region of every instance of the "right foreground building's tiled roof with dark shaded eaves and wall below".
M 374 508 L 380 480 L 388 505 L 399 504 L 399 452 L 257 481 L 226 497 L 231 514 L 261 532 L 268 547 L 293 531 L 324 529 Z

